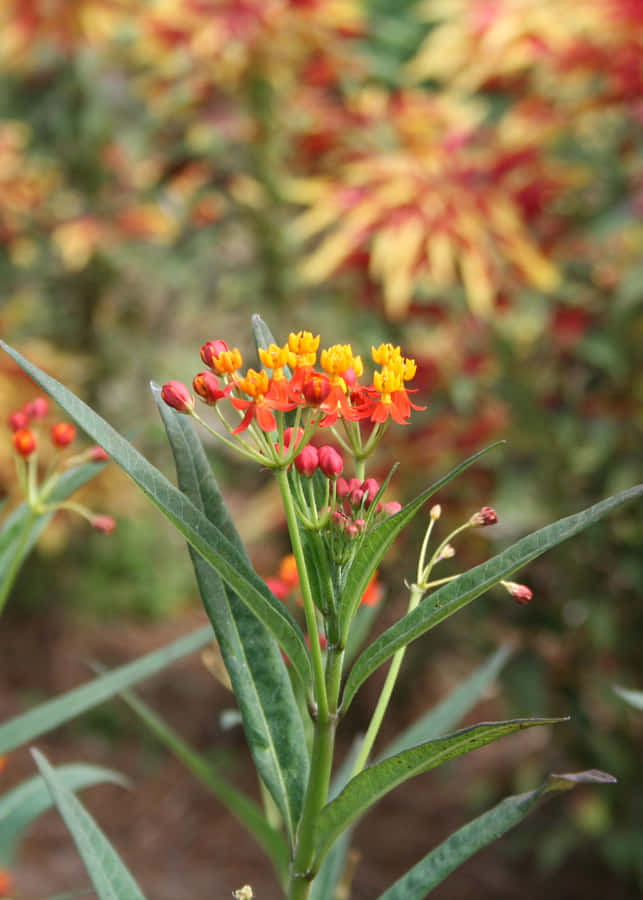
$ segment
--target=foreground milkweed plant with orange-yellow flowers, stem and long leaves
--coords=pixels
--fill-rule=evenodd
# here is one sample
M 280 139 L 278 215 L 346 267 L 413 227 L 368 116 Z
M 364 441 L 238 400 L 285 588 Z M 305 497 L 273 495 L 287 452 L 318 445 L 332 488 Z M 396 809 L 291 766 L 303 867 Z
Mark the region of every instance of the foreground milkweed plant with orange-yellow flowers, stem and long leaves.
M 0 725 L 0 752 L 121 695 L 246 826 L 270 858 L 284 897 L 332 900 L 340 892 L 347 896 L 349 889 L 351 830 L 381 797 L 402 782 L 501 737 L 564 721 L 525 718 L 453 730 L 497 675 L 507 657 L 506 648 L 501 648 L 437 709 L 375 756 L 376 738 L 406 647 L 496 584 L 504 585 L 518 603 L 528 603 L 531 591 L 513 580 L 514 573 L 642 489 L 632 488 L 541 528 L 469 571 L 440 577 L 439 565 L 453 556 L 454 543 L 468 529 L 493 525 L 497 516 L 491 507 L 483 507 L 436 539 L 441 510 L 432 498 L 492 448 L 465 460 L 406 505 L 389 499 L 394 470 L 380 483 L 369 475 L 369 462 L 389 427 L 403 427 L 415 411 L 424 409 L 413 399 L 414 361 L 392 344 L 374 347 L 374 371 L 367 377 L 361 356 L 350 344 L 320 352 L 320 338 L 311 332 L 291 333 L 284 344 L 277 344 L 258 316 L 252 327 L 257 368 L 245 369 L 239 350 L 215 339 L 201 348 L 205 368 L 191 389 L 178 381 L 152 386 L 173 451 L 178 487 L 66 388 L 5 346 L 186 538 L 211 627 L 119 669 L 101 671 L 68 694 Z M 198 429 L 275 478 L 291 548 L 277 577 L 264 580 L 254 570 Z M 399 574 L 400 587 L 408 591 L 407 612 L 369 643 L 376 570 L 416 516 L 426 517 L 417 567 Z M 294 589 L 300 596 L 302 624 L 284 602 Z M 222 778 L 131 692 L 143 678 L 211 642 L 213 633 L 237 698 L 263 805 Z M 338 729 L 361 686 L 387 663 L 366 733 L 337 766 Z M 33 753 L 97 895 L 105 900 L 143 898 L 134 876 L 77 800 L 74 785 L 65 783 L 60 768 L 50 766 L 39 751 Z M 533 791 L 503 800 L 438 847 L 428 848 L 423 859 L 380 894 L 380 900 L 427 896 L 552 791 L 578 782 L 613 780 L 596 770 L 550 775 Z M 240 872 L 239 881 L 249 883 L 234 895 L 252 897 L 252 873 Z M 189 895 L 189 886 L 186 890 Z

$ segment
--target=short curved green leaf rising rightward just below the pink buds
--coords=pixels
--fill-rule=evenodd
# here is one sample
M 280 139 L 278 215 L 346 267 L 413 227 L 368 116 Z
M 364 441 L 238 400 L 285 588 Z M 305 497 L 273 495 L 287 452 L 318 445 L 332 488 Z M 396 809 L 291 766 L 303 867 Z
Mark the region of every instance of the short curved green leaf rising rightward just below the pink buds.
M 359 607 L 362 595 L 366 590 L 369 581 L 373 577 L 375 570 L 400 531 L 409 524 L 427 500 L 441 488 L 445 487 L 445 485 L 452 481 L 457 475 L 473 465 L 473 463 L 480 459 L 481 456 L 484 456 L 490 450 L 499 447 L 501 444 L 504 444 L 504 441 L 497 441 L 495 444 L 491 444 L 490 447 L 486 447 L 484 450 L 480 450 L 479 453 L 475 453 L 473 456 L 465 459 L 464 462 L 460 463 L 459 466 L 456 466 L 455 469 L 439 481 L 436 481 L 435 484 L 432 484 L 431 487 L 422 491 L 415 500 L 407 503 L 407 505 L 394 516 L 390 516 L 379 525 L 376 525 L 375 528 L 365 533 L 360 546 L 356 550 L 353 562 L 346 573 L 344 586 L 338 603 L 339 608 L 342 611 L 342 630 L 344 632 L 346 632 L 348 626 L 352 622 L 355 612 Z

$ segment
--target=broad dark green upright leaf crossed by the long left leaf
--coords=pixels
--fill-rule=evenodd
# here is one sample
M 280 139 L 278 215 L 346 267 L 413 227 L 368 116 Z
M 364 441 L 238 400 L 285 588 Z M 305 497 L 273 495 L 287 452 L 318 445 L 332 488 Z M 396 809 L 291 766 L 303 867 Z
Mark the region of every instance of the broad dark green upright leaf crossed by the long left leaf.
M 192 423 L 155 397 L 170 440 L 179 487 L 239 552 L 241 539 L 227 512 Z M 308 783 L 306 737 L 281 651 L 265 625 L 192 552 L 204 606 L 239 703 L 250 752 L 294 841 Z

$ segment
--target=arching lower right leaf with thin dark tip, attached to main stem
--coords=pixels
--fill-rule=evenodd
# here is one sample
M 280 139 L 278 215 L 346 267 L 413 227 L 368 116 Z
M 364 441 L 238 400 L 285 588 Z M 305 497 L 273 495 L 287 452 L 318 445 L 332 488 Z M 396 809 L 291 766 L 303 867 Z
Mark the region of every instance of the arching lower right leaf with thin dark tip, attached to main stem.
M 328 803 L 315 822 L 317 864 L 333 841 L 393 788 L 428 772 L 450 759 L 484 747 L 498 738 L 537 725 L 555 725 L 566 719 L 514 719 L 509 722 L 481 722 L 437 741 L 429 741 L 390 756 L 352 778 L 341 794 Z M 316 865 L 313 866 L 313 871 Z

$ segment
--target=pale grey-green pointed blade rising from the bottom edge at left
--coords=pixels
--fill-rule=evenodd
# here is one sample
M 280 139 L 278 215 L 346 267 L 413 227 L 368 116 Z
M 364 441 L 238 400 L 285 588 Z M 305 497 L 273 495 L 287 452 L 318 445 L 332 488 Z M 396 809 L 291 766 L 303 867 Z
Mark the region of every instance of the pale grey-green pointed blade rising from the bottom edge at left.
M 31 752 L 100 900 L 145 900 L 125 863 L 87 810 L 65 786 L 43 754 L 36 749 Z

